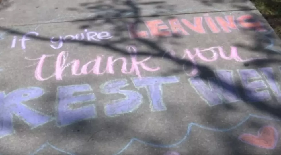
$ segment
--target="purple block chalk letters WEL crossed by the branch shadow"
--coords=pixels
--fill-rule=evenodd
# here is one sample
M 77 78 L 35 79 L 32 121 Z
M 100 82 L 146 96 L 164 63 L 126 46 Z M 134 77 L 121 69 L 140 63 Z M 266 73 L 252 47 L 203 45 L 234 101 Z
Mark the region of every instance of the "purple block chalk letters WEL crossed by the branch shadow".
M 274 81 L 272 68 L 265 67 L 259 70 L 264 75 L 265 80 L 262 80 L 262 76 L 255 69 L 238 71 L 243 88 L 245 88 L 245 99 L 249 102 L 268 101 L 272 98 L 270 96 L 270 91 L 272 91 L 279 101 L 280 89 L 277 82 Z M 241 101 L 234 83 L 233 71 L 218 70 L 215 73 L 218 78 L 208 78 L 207 84 L 200 77 L 191 77 L 188 81 L 209 106 Z M 267 87 L 266 82 L 270 87 Z

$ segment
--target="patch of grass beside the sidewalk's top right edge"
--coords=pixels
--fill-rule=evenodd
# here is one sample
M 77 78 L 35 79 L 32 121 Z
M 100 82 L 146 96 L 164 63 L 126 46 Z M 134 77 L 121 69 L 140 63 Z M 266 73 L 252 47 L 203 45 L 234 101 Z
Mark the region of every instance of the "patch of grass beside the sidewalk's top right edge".
M 281 0 L 251 0 L 281 38 Z

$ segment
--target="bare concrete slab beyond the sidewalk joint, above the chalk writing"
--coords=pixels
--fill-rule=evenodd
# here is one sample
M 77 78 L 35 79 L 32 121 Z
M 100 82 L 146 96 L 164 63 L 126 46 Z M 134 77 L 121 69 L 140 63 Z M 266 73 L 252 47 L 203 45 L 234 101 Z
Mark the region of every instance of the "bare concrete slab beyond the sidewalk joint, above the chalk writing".
M 255 9 L 245 0 L 239 1 L 15 1 L 3 0 L 1 25 L 24 25 L 63 22 L 79 19 L 104 19 L 219 12 Z

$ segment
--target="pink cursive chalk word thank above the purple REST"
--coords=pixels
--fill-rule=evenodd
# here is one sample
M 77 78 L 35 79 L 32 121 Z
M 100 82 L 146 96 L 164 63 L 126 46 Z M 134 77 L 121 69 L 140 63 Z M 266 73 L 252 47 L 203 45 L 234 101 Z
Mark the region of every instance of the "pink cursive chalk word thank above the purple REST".
M 135 47 L 130 46 L 127 49 L 128 49 L 128 51 L 134 50 L 134 52 L 137 52 Z M 80 60 L 74 59 L 74 60 L 70 61 L 69 63 L 67 63 L 66 61 L 67 61 L 68 55 L 69 55 L 69 53 L 67 51 L 62 51 L 61 53 L 58 54 L 58 56 L 56 58 L 56 63 L 54 66 L 55 71 L 52 75 L 50 75 L 49 77 L 46 77 L 46 78 L 42 77 L 42 75 L 41 75 L 44 61 L 46 58 L 53 57 L 54 55 L 42 55 L 40 58 L 36 58 L 36 59 L 26 58 L 26 59 L 39 60 L 37 63 L 35 72 L 34 72 L 34 76 L 35 76 L 36 80 L 39 80 L 39 81 L 48 80 L 52 77 L 55 77 L 56 80 L 63 80 L 63 78 L 62 78 L 63 72 L 70 65 L 71 65 L 71 74 L 75 75 L 75 76 L 87 75 L 87 74 L 103 75 L 105 73 L 114 74 L 114 63 L 118 60 L 122 61 L 121 73 L 123 73 L 123 74 L 133 74 L 134 73 L 138 77 L 141 77 L 140 68 L 144 69 L 145 71 L 149 71 L 149 72 L 155 72 L 160 69 L 160 67 L 151 68 L 145 64 L 145 62 L 148 61 L 151 57 L 146 57 L 145 59 L 139 61 L 139 60 L 137 60 L 135 54 L 132 54 L 129 59 L 130 60 L 129 64 L 131 65 L 130 71 L 127 70 L 127 61 L 128 61 L 127 58 L 119 57 L 119 58 L 116 58 L 113 60 L 113 57 L 108 57 L 107 61 L 106 61 L 106 63 L 107 63 L 106 68 L 104 69 L 104 71 L 101 72 L 100 65 L 101 65 L 102 59 L 103 59 L 101 56 L 97 56 L 96 59 L 88 61 L 86 64 L 84 64 L 81 67 L 81 69 L 79 69 Z M 92 65 L 92 64 L 93 64 L 93 67 L 88 70 L 89 65 Z M 78 70 L 80 70 L 80 71 L 78 72 Z

